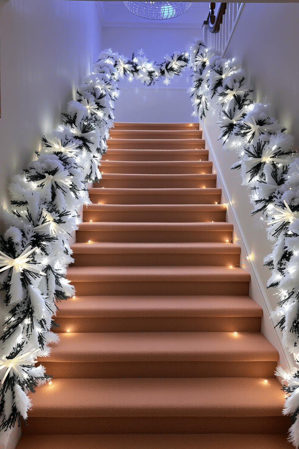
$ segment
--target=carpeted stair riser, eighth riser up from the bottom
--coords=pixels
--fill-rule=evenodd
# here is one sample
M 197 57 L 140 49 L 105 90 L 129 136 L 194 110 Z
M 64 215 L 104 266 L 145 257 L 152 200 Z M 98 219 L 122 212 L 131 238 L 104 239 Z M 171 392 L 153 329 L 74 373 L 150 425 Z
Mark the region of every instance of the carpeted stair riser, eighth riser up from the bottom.
M 101 190 L 101 189 L 99 189 Z M 215 204 L 221 201 L 221 194 L 179 195 L 179 194 L 90 194 L 94 204 Z

